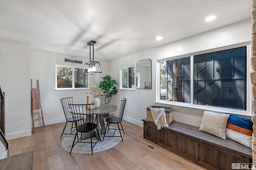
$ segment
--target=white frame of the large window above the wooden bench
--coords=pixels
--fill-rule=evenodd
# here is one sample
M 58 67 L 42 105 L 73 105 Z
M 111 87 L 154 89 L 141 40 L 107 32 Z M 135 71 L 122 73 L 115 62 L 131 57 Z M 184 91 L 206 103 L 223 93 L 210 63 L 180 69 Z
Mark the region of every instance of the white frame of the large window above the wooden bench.
M 160 100 L 160 62 L 167 61 L 167 60 L 173 60 L 183 57 L 190 56 L 190 63 L 194 63 L 194 55 L 204 54 L 204 53 L 212 53 L 216 51 L 222 51 L 237 47 L 243 47 L 246 46 L 246 110 L 240 110 L 240 109 L 230 109 L 225 107 L 218 107 L 218 106 L 204 106 L 204 105 L 198 105 L 194 104 L 194 66 L 191 64 L 190 66 L 190 103 L 182 103 L 182 102 L 172 102 L 172 101 L 166 101 L 166 100 Z M 252 114 L 252 84 L 250 80 L 250 72 L 252 72 L 252 67 L 250 64 L 250 58 L 251 58 L 251 45 L 250 42 L 246 43 L 240 43 L 236 45 L 229 45 L 226 47 L 220 47 L 216 49 L 210 49 L 206 51 L 200 51 L 197 53 L 191 53 L 187 55 L 181 55 L 176 57 L 170 57 L 166 59 L 160 59 L 156 62 L 156 102 L 158 104 L 167 104 L 172 106 L 182 106 L 182 107 L 190 107 L 195 109 L 203 109 L 203 110 L 209 110 L 209 111 L 216 111 L 216 112 L 223 112 L 223 113 L 234 113 L 237 115 L 251 115 Z

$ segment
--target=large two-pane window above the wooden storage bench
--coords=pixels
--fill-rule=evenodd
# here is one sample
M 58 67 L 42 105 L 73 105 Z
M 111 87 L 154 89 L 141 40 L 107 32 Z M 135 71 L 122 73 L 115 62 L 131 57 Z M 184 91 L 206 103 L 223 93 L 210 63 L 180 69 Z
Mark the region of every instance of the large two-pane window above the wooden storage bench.
M 158 101 L 248 109 L 247 51 L 245 46 L 161 61 Z

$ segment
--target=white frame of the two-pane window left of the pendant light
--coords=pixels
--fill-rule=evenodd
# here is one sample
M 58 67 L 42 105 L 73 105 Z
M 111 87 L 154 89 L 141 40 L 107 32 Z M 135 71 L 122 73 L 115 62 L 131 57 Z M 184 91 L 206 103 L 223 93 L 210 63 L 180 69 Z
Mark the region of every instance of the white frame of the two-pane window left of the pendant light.
M 57 67 L 66 67 L 66 68 L 72 68 L 72 88 L 57 88 L 58 82 L 57 82 Z M 86 90 L 88 88 L 75 88 L 75 68 L 84 69 L 84 67 L 78 67 L 78 66 L 69 66 L 69 65 L 55 65 L 55 90 Z M 88 76 L 88 84 L 90 84 L 90 79 Z M 88 87 L 87 84 L 87 87 Z

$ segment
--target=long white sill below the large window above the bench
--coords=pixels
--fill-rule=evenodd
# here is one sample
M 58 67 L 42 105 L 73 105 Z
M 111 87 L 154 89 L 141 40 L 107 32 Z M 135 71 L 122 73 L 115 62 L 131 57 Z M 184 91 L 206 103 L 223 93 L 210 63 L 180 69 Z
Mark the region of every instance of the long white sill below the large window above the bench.
M 166 104 L 166 105 L 172 105 L 172 106 L 178 106 L 178 107 L 188 107 L 193 109 L 199 109 L 199 110 L 208 110 L 213 112 L 219 112 L 219 113 L 232 113 L 235 115 L 243 115 L 243 116 L 252 116 L 252 113 L 248 110 L 239 110 L 239 109 L 229 109 L 224 107 L 214 107 L 214 106 L 203 106 L 203 105 L 194 105 L 189 103 L 181 103 L 181 102 L 170 102 L 170 101 L 155 101 L 156 104 Z

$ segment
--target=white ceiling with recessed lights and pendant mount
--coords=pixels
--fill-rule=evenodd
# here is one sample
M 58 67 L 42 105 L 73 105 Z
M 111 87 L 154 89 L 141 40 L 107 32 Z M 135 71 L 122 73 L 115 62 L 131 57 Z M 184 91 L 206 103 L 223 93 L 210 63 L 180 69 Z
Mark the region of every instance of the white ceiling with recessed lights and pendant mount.
M 0 0 L 0 39 L 112 61 L 251 18 L 253 0 Z M 217 15 L 212 22 L 204 21 Z M 162 35 L 162 41 L 155 37 Z

